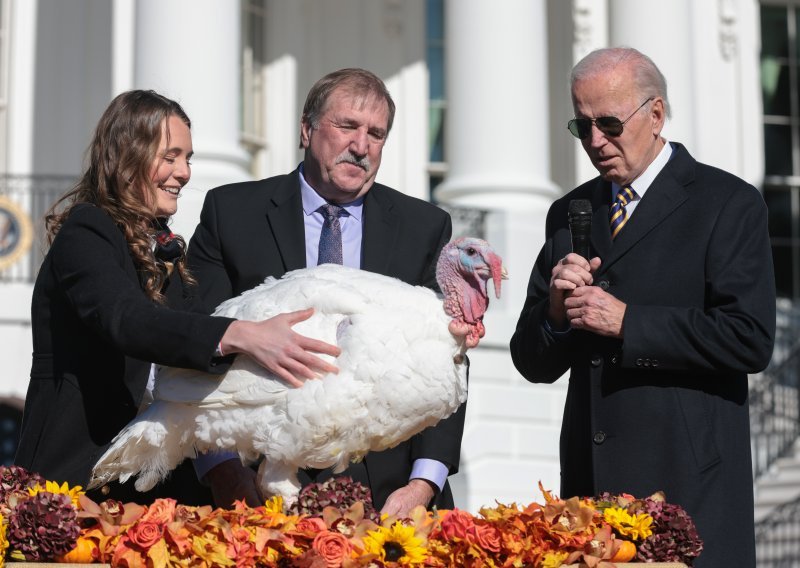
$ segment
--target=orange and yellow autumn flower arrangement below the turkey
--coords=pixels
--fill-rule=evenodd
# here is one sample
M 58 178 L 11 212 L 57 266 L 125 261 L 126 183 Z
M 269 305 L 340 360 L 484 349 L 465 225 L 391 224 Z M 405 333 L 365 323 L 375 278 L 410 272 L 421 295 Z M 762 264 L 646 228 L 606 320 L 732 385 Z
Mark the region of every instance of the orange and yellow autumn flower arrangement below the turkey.
M 95 503 L 79 487 L 0 467 L 3 561 L 112 566 L 300 568 L 614 566 L 623 556 L 691 565 L 702 543 L 691 519 L 662 496 L 604 494 L 544 503 L 497 504 L 406 518 L 378 515 L 369 491 L 347 478 L 306 488 L 285 509 L 279 497 L 251 508 Z

